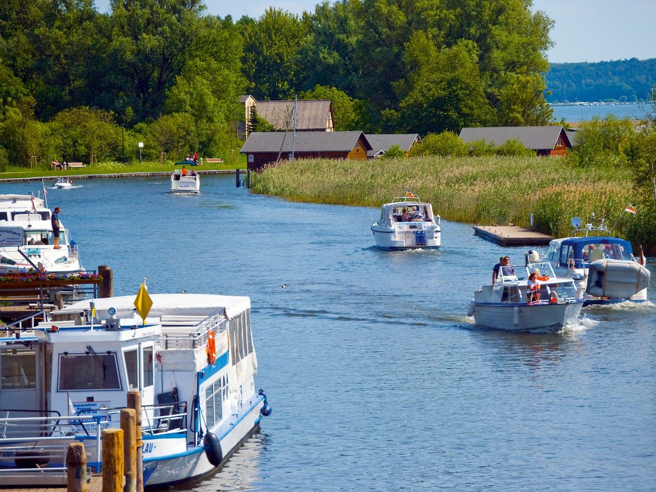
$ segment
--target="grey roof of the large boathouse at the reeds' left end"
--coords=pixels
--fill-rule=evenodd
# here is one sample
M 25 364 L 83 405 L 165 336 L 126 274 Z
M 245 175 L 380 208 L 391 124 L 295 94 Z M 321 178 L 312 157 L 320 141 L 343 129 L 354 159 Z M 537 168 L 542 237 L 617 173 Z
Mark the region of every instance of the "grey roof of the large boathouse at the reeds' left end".
M 358 139 L 364 140 L 365 148 L 371 144 L 360 131 L 354 132 L 297 132 L 294 152 L 351 152 Z M 291 132 L 253 132 L 241 148 L 241 154 L 291 152 Z

